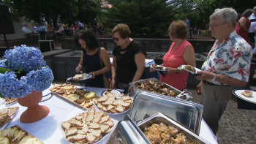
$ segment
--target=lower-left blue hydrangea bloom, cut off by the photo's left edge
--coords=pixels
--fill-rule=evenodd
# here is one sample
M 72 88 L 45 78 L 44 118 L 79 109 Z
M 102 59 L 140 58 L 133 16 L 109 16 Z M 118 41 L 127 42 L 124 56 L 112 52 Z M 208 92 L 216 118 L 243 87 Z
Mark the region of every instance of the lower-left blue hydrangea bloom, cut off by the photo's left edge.
M 16 78 L 15 72 L 0 73 L 0 92 L 5 98 L 20 98 L 31 94 L 32 86 L 26 77 Z

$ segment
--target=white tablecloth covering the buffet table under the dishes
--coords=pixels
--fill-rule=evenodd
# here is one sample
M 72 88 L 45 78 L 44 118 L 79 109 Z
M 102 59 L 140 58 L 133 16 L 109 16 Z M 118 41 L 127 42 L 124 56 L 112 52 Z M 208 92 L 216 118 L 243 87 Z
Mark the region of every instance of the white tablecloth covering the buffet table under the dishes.
M 101 95 L 102 91 L 105 91 L 105 88 L 89 88 L 89 91 L 94 91 L 97 95 Z M 43 91 L 43 95 L 48 94 L 49 92 L 50 91 L 45 90 Z M 0 109 L 6 107 L 20 107 L 18 113 L 15 115 L 15 117 L 7 125 L 6 128 L 17 124 L 30 134 L 34 135 L 34 137 L 38 137 L 39 140 L 42 140 L 42 142 L 45 144 L 69 144 L 65 137 L 62 136 L 61 131 L 59 129 L 59 125 L 61 124 L 61 122 L 67 120 L 67 118 L 74 115 L 74 113 L 83 113 L 86 110 L 76 105 L 73 105 L 66 99 L 62 99 L 61 97 L 56 96 L 54 94 L 51 97 L 51 99 L 45 102 L 40 102 L 39 105 L 47 106 L 50 109 L 50 113 L 47 117 L 43 118 L 42 120 L 31 124 L 20 123 L 20 115 L 26 110 L 26 107 L 22 107 L 18 103 L 15 103 L 10 106 L 1 105 Z M 117 121 L 121 121 L 127 114 L 129 114 L 129 111 L 122 115 L 111 115 L 110 117 Z M 207 140 L 209 143 L 217 143 L 217 138 L 208 128 L 208 125 L 206 124 L 205 121 L 202 121 L 201 123 L 199 136 L 202 137 L 204 140 Z M 104 140 L 102 140 L 100 144 L 106 143 L 109 137 L 110 134 L 108 134 L 108 136 Z

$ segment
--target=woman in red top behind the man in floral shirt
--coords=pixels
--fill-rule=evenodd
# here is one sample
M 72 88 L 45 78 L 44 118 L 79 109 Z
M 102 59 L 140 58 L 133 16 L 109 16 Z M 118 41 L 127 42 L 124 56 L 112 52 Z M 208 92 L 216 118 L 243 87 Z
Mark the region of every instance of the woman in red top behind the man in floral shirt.
M 241 15 L 240 20 L 238 20 L 238 23 L 236 25 L 236 33 L 243 37 L 246 42 L 248 42 L 248 32 L 249 27 L 251 26 L 251 20 L 248 19 L 250 15 L 252 15 L 253 10 L 248 9 L 244 11 L 244 13 Z

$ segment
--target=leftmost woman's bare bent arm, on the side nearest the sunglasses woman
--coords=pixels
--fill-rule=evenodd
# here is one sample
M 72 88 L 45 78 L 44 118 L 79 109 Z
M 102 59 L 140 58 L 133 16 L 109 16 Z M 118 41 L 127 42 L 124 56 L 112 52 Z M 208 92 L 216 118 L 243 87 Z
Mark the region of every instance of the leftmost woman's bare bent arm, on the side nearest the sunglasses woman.
M 105 72 L 110 71 L 111 69 L 111 64 L 110 64 L 110 59 L 109 59 L 109 55 L 108 52 L 105 48 L 100 48 L 100 57 L 103 61 L 103 63 L 105 64 L 105 67 L 103 67 L 102 69 L 98 70 L 97 75 L 99 74 L 103 74 Z

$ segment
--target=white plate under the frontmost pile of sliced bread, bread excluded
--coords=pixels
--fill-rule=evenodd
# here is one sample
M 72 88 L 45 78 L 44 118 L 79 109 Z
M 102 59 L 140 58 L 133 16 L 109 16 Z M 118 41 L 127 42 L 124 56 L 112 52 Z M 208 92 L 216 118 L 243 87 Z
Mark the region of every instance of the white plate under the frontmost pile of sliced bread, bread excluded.
M 95 112 L 97 113 L 97 112 L 99 112 L 99 110 L 97 109 L 97 107 L 94 107 L 95 108 Z M 70 114 L 70 115 L 68 115 L 68 117 L 66 118 L 66 120 L 65 121 L 68 121 L 70 118 L 75 118 L 75 115 L 78 115 L 79 113 L 85 113 L 85 112 L 87 112 L 88 110 L 86 110 L 86 111 L 83 111 L 82 109 L 75 109 L 75 110 L 73 110 L 72 111 L 72 113 Z M 111 132 L 113 131 L 113 129 L 115 129 L 116 128 L 116 124 L 118 124 L 118 121 L 117 120 L 115 120 L 115 119 L 113 119 L 113 118 L 110 118 L 111 119 L 111 121 L 113 121 L 113 123 L 114 123 L 114 126 L 111 128 Z M 65 121 L 62 121 L 62 122 L 65 122 Z M 62 123 L 61 122 L 61 123 Z M 66 138 L 66 136 L 65 136 L 65 132 L 64 132 L 64 129 L 62 128 L 62 126 L 61 126 L 61 124 L 59 124 L 59 130 L 61 131 L 61 134 L 63 135 L 63 137 L 67 140 L 67 138 Z M 111 133 L 110 132 L 110 133 Z M 108 133 L 108 134 L 110 134 L 110 133 Z M 99 141 L 97 141 L 96 143 L 94 143 L 94 144 L 99 144 L 99 143 L 101 143 L 102 142 L 102 140 L 105 138 L 105 137 L 107 137 L 107 135 L 108 134 L 105 134 L 104 135 L 104 137 L 102 137 L 102 139 L 100 139 Z M 67 141 L 68 142 L 68 141 Z M 69 142 L 68 142 L 69 143 Z M 74 144 L 74 143 L 70 143 L 70 144 Z

